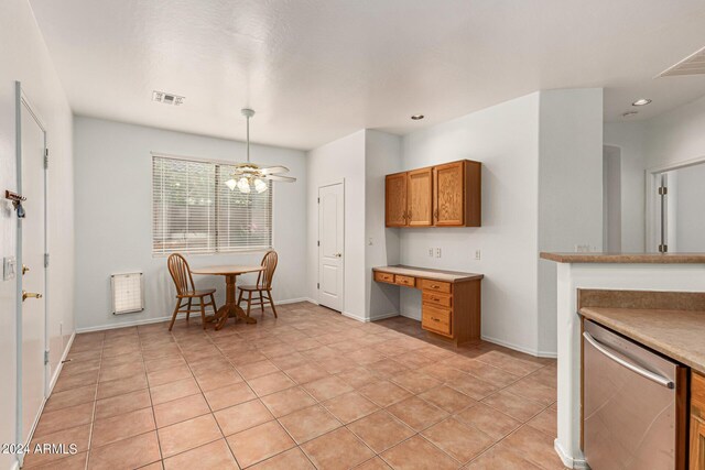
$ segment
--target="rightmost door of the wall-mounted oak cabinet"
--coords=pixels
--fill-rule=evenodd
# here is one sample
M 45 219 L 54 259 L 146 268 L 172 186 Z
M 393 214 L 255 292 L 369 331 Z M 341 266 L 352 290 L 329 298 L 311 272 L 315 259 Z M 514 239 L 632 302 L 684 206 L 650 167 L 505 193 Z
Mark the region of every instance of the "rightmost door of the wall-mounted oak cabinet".
M 433 167 L 433 207 L 435 226 L 465 225 L 464 162 Z

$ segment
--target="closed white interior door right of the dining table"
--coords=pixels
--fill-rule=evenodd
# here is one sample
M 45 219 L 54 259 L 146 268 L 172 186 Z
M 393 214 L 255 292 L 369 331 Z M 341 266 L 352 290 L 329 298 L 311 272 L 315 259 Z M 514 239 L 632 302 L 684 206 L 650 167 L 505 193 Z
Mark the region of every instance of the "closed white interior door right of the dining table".
M 318 303 L 343 311 L 345 201 L 343 183 L 318 188 Z

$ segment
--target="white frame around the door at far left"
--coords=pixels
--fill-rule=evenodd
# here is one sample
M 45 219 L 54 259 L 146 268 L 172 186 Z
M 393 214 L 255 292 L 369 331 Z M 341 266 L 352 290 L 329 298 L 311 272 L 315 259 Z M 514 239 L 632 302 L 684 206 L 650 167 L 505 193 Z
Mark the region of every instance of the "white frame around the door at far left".
M 32 105 L 32 101 L 24 92 L 22 88 L 22 84 L 20 81 L 15 81 L 15 157 L 17 157 L 17 190 L 21 195 L 22 194 L 22 112 L 26 110 L 32 119 L 36 122 L 36 124 L 42 130 L 42 134 L 44 136 L 44 154 L 46 155 L 46 125 L 44 124 L 44 120 L 40 117 L 36 111 L 36 107 Z M 44 199 L 44 265 L 42 266 L 44 273 L 44 353 L 48 354 L 48 269 L 46 265 L 46 256 L 48 254 L 48 167 L 44 165 L 43 172 L 43 199 Z M 17 439 L 20 440 L 23 438 L 23 429 L 22 429 L 22 219 L 18 218 L 17 225 L 17 266 L 15 267 L 15 348 L 17 348 L 17 371 L 15 371 L 15 380 L 17 380 L 17 407 L 15 407 L 15 436 Z M 36 424 L 39 422 L 39 417 L 42 414 L 42 409 L 44 408 L 44 403 L 46 403 L 46 397 L 48 394 L 48 385 L 50 385 L 50 362 L 44 363 L 44 401 L 42 406 L 40 407 L 40 412 L 36 416 L 36 419 L 32 424 L 32 429 L 29 433 L 30 439 L 34 434 L 34 429 L 36 428 Z M 28 444 L 29 442 L 22 442 Z M 18 461 L 22 464 L 24 460 L 24 453 L 17 455 Z

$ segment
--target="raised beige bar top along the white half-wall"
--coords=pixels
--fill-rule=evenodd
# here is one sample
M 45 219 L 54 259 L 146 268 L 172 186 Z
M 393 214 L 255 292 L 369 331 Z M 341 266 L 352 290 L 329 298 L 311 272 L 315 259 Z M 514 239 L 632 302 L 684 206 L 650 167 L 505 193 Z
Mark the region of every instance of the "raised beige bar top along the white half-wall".
M 705 264 L 705 253 L 541 253 L 556 263 Z

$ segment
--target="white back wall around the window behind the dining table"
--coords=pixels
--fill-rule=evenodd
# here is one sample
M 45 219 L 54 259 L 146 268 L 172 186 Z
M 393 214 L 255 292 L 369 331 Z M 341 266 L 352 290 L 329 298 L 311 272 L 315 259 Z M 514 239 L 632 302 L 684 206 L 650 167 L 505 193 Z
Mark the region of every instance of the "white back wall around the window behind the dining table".
M 166 259 L 152 256 L 152 157 L 150 152 L 242 161 L 242 142 L 164 131 L 141 125 L 76 117 L 76 305 L 79 329 L 105 328 L 171 316 L 174 287 Z M 257 128 L 254 128 L 257 130 Z M 279 253 L 274 275 L 275 300 L 306 297 L 306 163 L 301 151 L 252 145 L 252 160 L 282 164 L 296 183 L 274 183 L 273 245 Z M 191 255 L 192 266 L 210 264 L 259 264 L 262 252 Z M 142 271 L 145 309 L 112 315 L 110 274 Z M 238 282 L 253 281 L 252 275 Z M 225 299 L 221 277 L 196 276 L 199 286 L 218 289 Z

